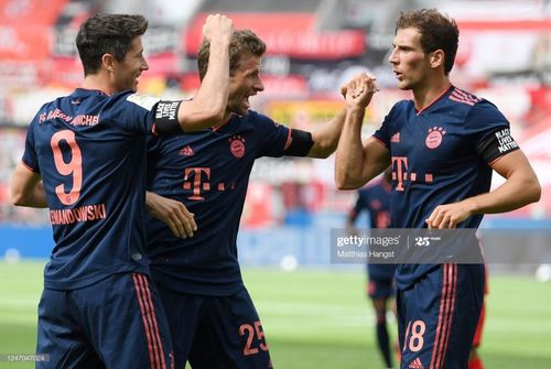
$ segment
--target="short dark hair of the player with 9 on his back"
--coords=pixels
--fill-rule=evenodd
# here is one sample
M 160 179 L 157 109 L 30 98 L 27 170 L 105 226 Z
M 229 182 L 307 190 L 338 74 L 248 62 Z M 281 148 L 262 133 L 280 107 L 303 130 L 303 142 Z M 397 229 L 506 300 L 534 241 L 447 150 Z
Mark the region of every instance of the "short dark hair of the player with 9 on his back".
M 76 36 L 85 76 L 99 70 L 104 54 L 111 54 L 121 62 L 132 40 L 143 35 L 147 30 L 148 21 L 142 15 L 96 14 L 88 18 Z

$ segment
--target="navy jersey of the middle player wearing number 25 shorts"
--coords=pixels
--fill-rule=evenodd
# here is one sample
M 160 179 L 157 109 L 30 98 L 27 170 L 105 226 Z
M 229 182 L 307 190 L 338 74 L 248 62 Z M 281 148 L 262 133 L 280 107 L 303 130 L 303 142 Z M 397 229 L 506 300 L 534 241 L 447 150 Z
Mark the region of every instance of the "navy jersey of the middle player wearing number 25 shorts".
M 218 129 L 152 140 L 148 189 L 182 202 L 195 214 L 194 237 L 180 239 L 160 220 L 148 221 L 155 282 L 203 295 L 231 295 L 242 287 L 237 231 L 249 174 L 260 156 L 281 156 L 291 130 L 249 111 Z

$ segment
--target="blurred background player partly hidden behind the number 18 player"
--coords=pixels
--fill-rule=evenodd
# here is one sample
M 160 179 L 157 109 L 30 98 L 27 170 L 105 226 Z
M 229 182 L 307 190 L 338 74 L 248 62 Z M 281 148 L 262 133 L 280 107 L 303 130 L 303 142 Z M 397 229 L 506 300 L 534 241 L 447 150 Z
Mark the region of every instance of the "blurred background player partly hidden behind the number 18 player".
M 348 214 L 346 221 L 346 227 L 350 230 L 350 232 L 357 234 L 354 223 L 356 221 L 358 215 L 364 210 L 369 214 L 369 227 L 371 229 L 385 229 L 390 227 L 391 176 L 391 169 L 388 167 L 383 172 L 379 182 L 367 188 L 358 191 L 356 205 Z M 367 263 L 367 294 L 371 300 L 375 310 L 375 316 L 377 318 L 377 344 L 387 368 L 393 367 L 390 354 L 390 338 L 387 327 L 387 312 L 389 311 L 389 300 L 391 302 L 391 306 L 395 306 L 395 272 L 396 263 Z

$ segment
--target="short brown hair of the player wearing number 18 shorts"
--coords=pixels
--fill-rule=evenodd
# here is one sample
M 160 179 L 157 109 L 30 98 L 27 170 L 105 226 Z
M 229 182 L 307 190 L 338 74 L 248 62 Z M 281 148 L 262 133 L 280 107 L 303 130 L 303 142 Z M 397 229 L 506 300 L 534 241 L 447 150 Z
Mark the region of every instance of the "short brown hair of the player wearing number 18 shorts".
M 396 22 L 396 30 L 414 28 L 421 33 L 421 46 L 425 54 L 436 50 L 444 52 L 444 73 L 452 70 L 457 45 L 460 29 L 452 18 L 440 13 L 436 9 L 421 9 L 401 12 Z

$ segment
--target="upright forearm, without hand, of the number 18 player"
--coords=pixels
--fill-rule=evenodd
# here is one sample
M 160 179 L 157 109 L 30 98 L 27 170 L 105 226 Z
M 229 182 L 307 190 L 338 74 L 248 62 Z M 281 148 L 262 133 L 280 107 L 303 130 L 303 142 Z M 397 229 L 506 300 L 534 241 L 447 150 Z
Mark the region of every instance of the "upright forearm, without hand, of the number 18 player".
M 335 159 L 335 181 L 341 189 L 358 188 L 364 185 L 361 178 L 365 165 L 361 144 L 364 115 L 365 109 L 360 107 L 346 110 Z

